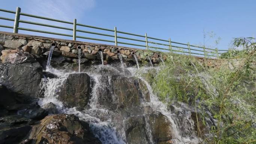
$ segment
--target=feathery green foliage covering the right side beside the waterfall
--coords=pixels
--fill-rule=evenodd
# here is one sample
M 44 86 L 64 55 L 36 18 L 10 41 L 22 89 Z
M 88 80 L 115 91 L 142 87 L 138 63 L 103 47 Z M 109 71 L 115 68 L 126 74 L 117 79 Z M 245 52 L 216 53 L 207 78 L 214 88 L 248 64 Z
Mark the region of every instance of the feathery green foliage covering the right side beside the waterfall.
M 161 101 L 181 101 L 211 111 L 217 125 L 211 128 L 213 137 L 202 136 L 204 142 L 256 143 L 256 46 L 250 40 L 234 40 L 243 50 L 237 51 L 239 61 L 233 61 L 232 67 L 230 61 L 224 61 L 219 69 L 209 69 L 193 57 L 172 54 L 167 56 L 165 67 L 150 75 L 153 91 Z

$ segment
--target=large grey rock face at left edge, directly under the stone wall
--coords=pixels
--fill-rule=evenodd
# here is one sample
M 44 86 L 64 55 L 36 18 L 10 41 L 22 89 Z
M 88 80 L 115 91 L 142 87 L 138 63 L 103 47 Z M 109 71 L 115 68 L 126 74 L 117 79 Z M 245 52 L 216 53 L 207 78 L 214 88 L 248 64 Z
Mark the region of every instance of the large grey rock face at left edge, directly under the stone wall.
M 0 63 L 0 84 L 20 95 L 36 98 L 41 82 L 41 72 L 42 67 L 38 62 Z

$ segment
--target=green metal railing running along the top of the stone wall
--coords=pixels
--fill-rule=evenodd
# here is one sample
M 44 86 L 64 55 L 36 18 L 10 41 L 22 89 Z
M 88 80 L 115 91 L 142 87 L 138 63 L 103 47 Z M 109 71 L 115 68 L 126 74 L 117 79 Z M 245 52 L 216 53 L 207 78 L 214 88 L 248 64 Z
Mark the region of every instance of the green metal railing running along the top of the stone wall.
M 7 25 L 0 25 L 0 27 L 4 27 L 4 28 L 13 28 L 13 33 L 18 33 L 18 30 L 33 31 L 33 32 L 38 32 L 38 33 L 46 33 L 46 34 L 54 34 L 54 35 L 60 35 L 60 36 L 73 37 L 73 40 L 76 40 L 76 38 L 97 40 L 97 41 L 115 43 L 115 46 L 118 46 L 118 44 L 123 44 L 123 45 L 143 47 L 146 50 L 150 50 L 150 48 L 151 48 L 151 50 L 152 49 L 168 50 L 168 52 L 171 52 L 171 53 L 174 53 L 174 52 L 184 53 L 184 54 L 187 53 L 188 55 L 192 55 L 192 54 L 193 55 L 203 55 L 204 57 L 208 56 L 208 57 L 217 57 L 217 58 L 219 58 L 219 54 L 221 54 L 221 53 L 219 53 L 219 51 L 228 51 L 228 50 L 219 50 L 217 48 L 216 49 L 211 49 L 211 48 L 205 48 L 204 46 L 190 45 L 189 42 L 188 43 L 173 42 L 173 41 L 171 41 L 170 38 L 168 40 L 157 39 L 157 38 L 154 38 L 154 37 L 148 37 L 147 33 L 145 33 L 144 36 L 139 35 L 139 34 L 127 33 L 127 32 L 123 32 L 123 31 L 118 31 L 116 27 L 114 28 L 114 30 L 111 30 L 111 29 L 107 29 L 107 28 L 100 28 L 100 27 L 94 27 L 94 26 L 90 26 L 90 25 L 79 24 L 79 23 L 76 22 L 76 19 L 74 19 L 73 22 L 68 22 L 68 21 L 62 21 L 62 20 L 58 20 L 58 19 L 46 18 L 46 17 L 42 17 L 42 16 L 30 15 L 30 14 L 27 14 L 27 13 L 22 13 L 21 8 L 19 8 L 19 7 L 17 7 L 16 12 L 15 11 L 10 11 L 10 10 L 5 10 L 5 9 L 0 9 L 0 11 L 15 14 L 15 19 L 0 17 L 0 19 L 3 19 L 3 20 L 14 21 L 14 26 L 13 27 L 12 26 L 7 26 Z M 56 26 L 56 25 L 42 24 L 42 23 L 31 22 L 31 21 L 24 21 L 24 20 L 20 19 L 21 16 L 28 16 L 28 17 L 32 17 L 32 18 L 45 19 L 45 20 L 54 21 L 54 22 L 61 22 L 61 23 L 65 23 L 65 24 L 72 24 L 73 28 L 66 28 L 66 27 L 60 27 L 60 26 Z M 58 28 L 58 29 L 63 29 L 63 30 L 70 30 L 70 31 L 73 31 L 73 35 L 63 34 L 63 33 L 54 33 L 54 32 L 50 32 L 50 31 L 35 30 L 35 29 L 30 29 L 30 28 L 22 28 L 22 27 L 19 27 L 19 23 L 40 25 L 40 26 L 44 26 L 44 27 Z M 79 30 L 79 29 L 77 29 L 77 26 L 87 27 L 87 28 L 94 28 L 94 29 L 104 30 L 104 31 L 110 31 L 110 32 L 114 32 L 114 35 L 103 34 L 103 33 L 95 33 L 95 32 L 92 32 L 92 31 Z M 107 39 L 96 39 L 96 38 L 85 37 L 85 36 L 77 36 L 77 32 L 87 33 L 87 34 L 95 34 L 95 35 L 106 36 L 106 37 L 113 37 L 114 39 L 113 40 L 107 40 Z M 126 35 L 129 35 L 129 36 L 143 37 L 145 40 L 122 37 L 122 36 L 119 36 L 118 34 L 126 34 Z M 136 41 L 136 42 L 143 42 L 145 44 L 141 45 L 141 44 L 136 44 L 136 43 L 121 42 L 121 41 L 119 41 L 120 39 L 132 40 L 132 41 Z M 150 41 L 150 39 L 151 40 L 158 40 L 161 43 L 152 42 L 152 41 Z M 155 45 L 157 45 L 157 46 L 167 46 L 167 48 L 160 48 L 160 47 L 157 47 Z M 183 46 L 186 46 L 186 48 L 182 47 L 182 46 L 177 46 L 177 45 L 183 45 Z M 191 47 L 193 47 L 193 48 L 191 48 Z M 178 50 L 174 49 L 174 48 L 178 48 Z M 201 53 L 198 53 L 198 52 L 201 52 Z

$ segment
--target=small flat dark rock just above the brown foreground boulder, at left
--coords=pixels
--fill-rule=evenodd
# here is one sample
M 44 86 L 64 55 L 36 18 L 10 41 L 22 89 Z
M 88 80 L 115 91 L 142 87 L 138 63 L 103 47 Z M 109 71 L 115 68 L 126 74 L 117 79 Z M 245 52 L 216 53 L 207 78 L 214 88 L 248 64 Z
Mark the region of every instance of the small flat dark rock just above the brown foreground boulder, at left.
M 33 120 L 41 120 L 48 116 L 48 111 L 43 108 L 32 108 L 18 111 L 18 114 Z

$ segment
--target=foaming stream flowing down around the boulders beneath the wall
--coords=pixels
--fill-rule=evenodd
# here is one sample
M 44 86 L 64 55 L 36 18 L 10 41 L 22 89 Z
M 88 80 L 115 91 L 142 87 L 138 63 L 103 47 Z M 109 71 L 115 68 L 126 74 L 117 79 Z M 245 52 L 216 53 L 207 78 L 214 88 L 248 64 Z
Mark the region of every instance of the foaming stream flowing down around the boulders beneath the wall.
M 150 68 L 153 67 L 141 67 L 140 70 L 146 71 Z M 166 120 L 171 124 L 171 127 L 166 131 L 171 133 L 171 138 L 169 139 L 171 139 L 170 142 L 172 144 L 198 144 L 200 141 L 196 136 L 194 122 L 191 119 L 191 111 L 188 111 L 189 108 L 185 104 L 182 104 L 182 107 L 174 105 L 175 112 L 170 112 L 167 105 L 159 101 L 158 97 L 153 94 L 150 84 L 136 74 L 137 68 L 125 68 L 125 73 L 123 73 L 122 69 L 110 65 L 95 65 L 88 70 L 81 70 L 81 73 L 87 73 L 91 78 L 90 99 L 85 110 L 79 110 L 77 107 L 66 108 L 63 102 L 58 100 L 58 92 L 62 91 L 61 86 L 64 81 L 68 78 L 69 74 L 77 72 L 67 72 L 54 68 L 50 68 L 48 71 L 57 77 L 42 79 L 41 86 L 44 91 L 44 97 L 39 100 L 40 106 L 44 107 L 45 104 L 52 102 L 57 105 L 59 113 L 75 114 L 80 120 L 89 123 L 90 130 L 103 144 L 132 143 L 130 137 L 134 137 L 134 135 L 127 134 L 128 129 L 131 129 L 131 127 L 127 128 L 127 122 L 130 119 L 132 122 L 136 119 L 136 123 L 139 123 L 140 117 L 144 117 L 144 124 L 141 127 L 145 129 L 145 135 L 143 136 L 146 141 L 144 141 L 144 144 L 157 144 L 155 133 L 153 134 L 155 129 L 152 128 L 154 123 L 152 124 L 152 118 L 150 117 L 152 113 L 156 113 L 154 111 L 158 111 L 167 117 Z M 120 101 L 118 92 L 121 91 L 115 87 L 118 86 L 116 85 L 117 81 L 121 84 L 130 82 L 132 85 L 138 82 L 135 87 L 139 87 L 139 93 L 142 91 L 140 85 L 144 83 L 143 85 L 146 85 L 146 90 L 143 91 L 148 92 L 149 100 L 147 100 L 145 94 L 142 94 L 139 102 L 134 101 L 134 103 L 138 103 L 137 105 L 131 104 L 127 109 L 123 108 L 123 105 L 119 106 L 119 103 L 115 106 L 115 101 Z M 131 88 L 127 88 L 126 91 L 134 93 Z M 113 104 L 106 102 L 110 101 L 104 97 L 106 94 L 108 94 L 106 98 L 113 99 Z M 103 99 L 105 99 L 104 102 L 102 102 Z M 141 139 L 143 138 L 141 137 Z

